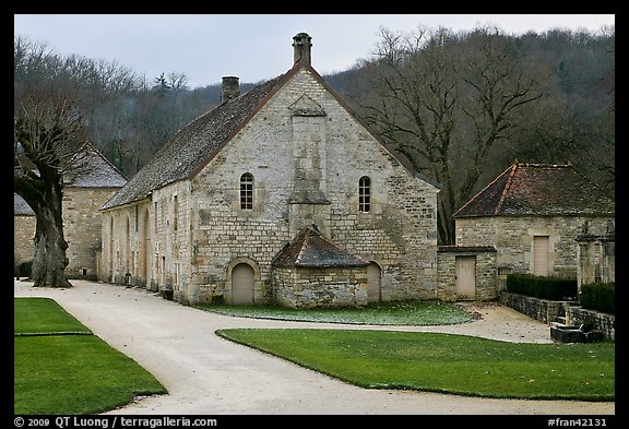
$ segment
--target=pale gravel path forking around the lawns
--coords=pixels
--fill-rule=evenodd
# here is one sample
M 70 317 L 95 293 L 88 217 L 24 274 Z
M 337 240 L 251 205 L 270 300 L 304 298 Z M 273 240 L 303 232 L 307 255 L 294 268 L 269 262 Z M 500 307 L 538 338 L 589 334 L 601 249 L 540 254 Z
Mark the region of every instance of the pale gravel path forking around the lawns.
M 223 339 L 228 327 L 329 327 L 444 332 L 551 343 L 549 327 L 498 303 L 467 302 L 477 318 L 442 326 L 367 326 L 215 314 L 141 288 L 73 281 L 43 289 L 14 281 L 14 296 L 49 297 L 151 371 L 169 394 L 138 398 L 122 415 L 614 415 L 615 402 L 487 400 L 368 390 Z

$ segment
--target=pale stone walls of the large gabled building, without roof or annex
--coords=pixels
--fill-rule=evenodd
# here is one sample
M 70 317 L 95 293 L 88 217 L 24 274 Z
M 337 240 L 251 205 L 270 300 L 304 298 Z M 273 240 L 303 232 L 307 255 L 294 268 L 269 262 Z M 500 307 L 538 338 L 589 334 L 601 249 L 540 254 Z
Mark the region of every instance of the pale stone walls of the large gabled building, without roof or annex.
M 436 298 L 438 186 L 397 159 L 309 64 L 296 63 L 218 147 L 193 174 L 105 207 L 103 279 L 171 288 L 182 303 L 229 302 L 232 270 L 246 263 L 253 302 L 270 303 L 274 278 L 286 274 L 273 276 L 273 259 L 316 225 L 379 265 L 382 300 Z M 363 177 L 368 211 L 359 210 Z

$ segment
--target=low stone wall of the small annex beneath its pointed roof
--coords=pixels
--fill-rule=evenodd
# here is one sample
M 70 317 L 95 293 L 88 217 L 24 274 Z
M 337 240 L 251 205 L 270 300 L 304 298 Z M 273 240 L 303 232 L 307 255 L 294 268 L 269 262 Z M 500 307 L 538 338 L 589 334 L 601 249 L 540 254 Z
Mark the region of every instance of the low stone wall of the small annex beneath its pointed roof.
M 290 308 L 337 308 L 367 305 L 367 269 L 275 267 L 274 298 Z

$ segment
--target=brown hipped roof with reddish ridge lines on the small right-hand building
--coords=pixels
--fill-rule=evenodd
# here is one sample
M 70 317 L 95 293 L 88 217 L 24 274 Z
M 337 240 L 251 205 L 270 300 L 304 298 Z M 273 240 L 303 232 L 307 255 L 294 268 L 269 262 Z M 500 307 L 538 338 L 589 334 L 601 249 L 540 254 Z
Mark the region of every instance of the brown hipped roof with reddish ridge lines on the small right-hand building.
M 612 196 L 571 164 L 523 164 L 507 168 L 453 215 L 614 216 Z

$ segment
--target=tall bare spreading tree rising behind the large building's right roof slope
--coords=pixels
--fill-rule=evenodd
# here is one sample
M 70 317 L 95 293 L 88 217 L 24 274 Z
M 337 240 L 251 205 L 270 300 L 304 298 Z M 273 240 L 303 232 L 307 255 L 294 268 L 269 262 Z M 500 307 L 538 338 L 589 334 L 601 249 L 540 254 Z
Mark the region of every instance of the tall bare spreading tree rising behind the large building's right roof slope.
M 542 97 L 536 81 L 498 29 L 465 37 L 446 28 L 411 35 L 381 29 L 367 63 L 372 93 L 363 110 L 413 166 L 439 181 L 441 243 L 454 242 L 452 214 L 473 196 L 491 148 L 507 142 L 518 115 Z

